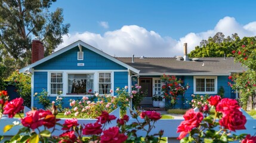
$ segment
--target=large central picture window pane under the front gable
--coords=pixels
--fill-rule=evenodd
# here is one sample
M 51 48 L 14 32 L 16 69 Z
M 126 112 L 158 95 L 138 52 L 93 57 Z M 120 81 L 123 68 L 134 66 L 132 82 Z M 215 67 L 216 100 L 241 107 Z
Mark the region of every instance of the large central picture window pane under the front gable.
M 93 94 L 93 74 L 68 74 L 67 94 Z

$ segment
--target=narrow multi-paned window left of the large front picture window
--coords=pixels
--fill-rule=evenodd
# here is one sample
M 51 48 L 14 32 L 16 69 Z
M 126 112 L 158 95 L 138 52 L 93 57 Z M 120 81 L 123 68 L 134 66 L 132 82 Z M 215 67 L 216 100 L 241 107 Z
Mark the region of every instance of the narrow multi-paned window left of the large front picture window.
M 51 73 L 51 94 L 63 91 L 63 73 Z

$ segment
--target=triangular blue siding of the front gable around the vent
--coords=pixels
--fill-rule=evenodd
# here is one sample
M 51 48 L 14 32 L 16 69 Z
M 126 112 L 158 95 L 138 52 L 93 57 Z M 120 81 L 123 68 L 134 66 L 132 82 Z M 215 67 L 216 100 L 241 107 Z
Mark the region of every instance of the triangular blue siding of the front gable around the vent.
M 127 70 L 127 68 L 91 51 L 82 48 L 84 60 L 78 60 L 79 48 L 70 49 L 51 60 L 39 64 L 35 70 Z M 84 63 L 84 66 L 78 66 L 78 63 Z

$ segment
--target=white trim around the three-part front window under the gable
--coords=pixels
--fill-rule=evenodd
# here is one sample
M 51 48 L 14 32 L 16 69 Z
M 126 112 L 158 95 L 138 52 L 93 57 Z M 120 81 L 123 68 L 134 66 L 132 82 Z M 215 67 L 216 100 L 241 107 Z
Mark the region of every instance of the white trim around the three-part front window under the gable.
M 122 70 L 115 70 L 115 71 L 122 71 Z M 126 70 L 127 71 L 127 70 Z M 91 97 L 92 95 L 82 95 L 82 94 L 78 94 L 78 95 L 67 95 L 67 74 L 86 74 L 86 73 L 90 73 L 90 74 L 94 74 L 94 91 L 93 92 L 98 92 L 98 74 L 99 73 L 111 73 L 111 89 L 114 90 L 114 71 L 113 70 L 51 70 L 47 72 L 47 92 L 48 92 L 48 96 L 50 97 L 57 97 L 57 94 L 51 94 L 51 73 L 62 73 L 63 75 L 63 91 L 61 96 L 63 97 Z M 111 94 L 112 96 L 114 95 L 114 93 Z

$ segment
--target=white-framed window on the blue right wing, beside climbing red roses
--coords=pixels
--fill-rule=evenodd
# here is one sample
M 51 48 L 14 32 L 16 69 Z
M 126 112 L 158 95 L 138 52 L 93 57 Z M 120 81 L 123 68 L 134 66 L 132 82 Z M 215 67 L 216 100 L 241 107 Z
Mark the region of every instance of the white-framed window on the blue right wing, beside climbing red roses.
M 194 77 L 194 94 L 217 94 L 217 77 Z

